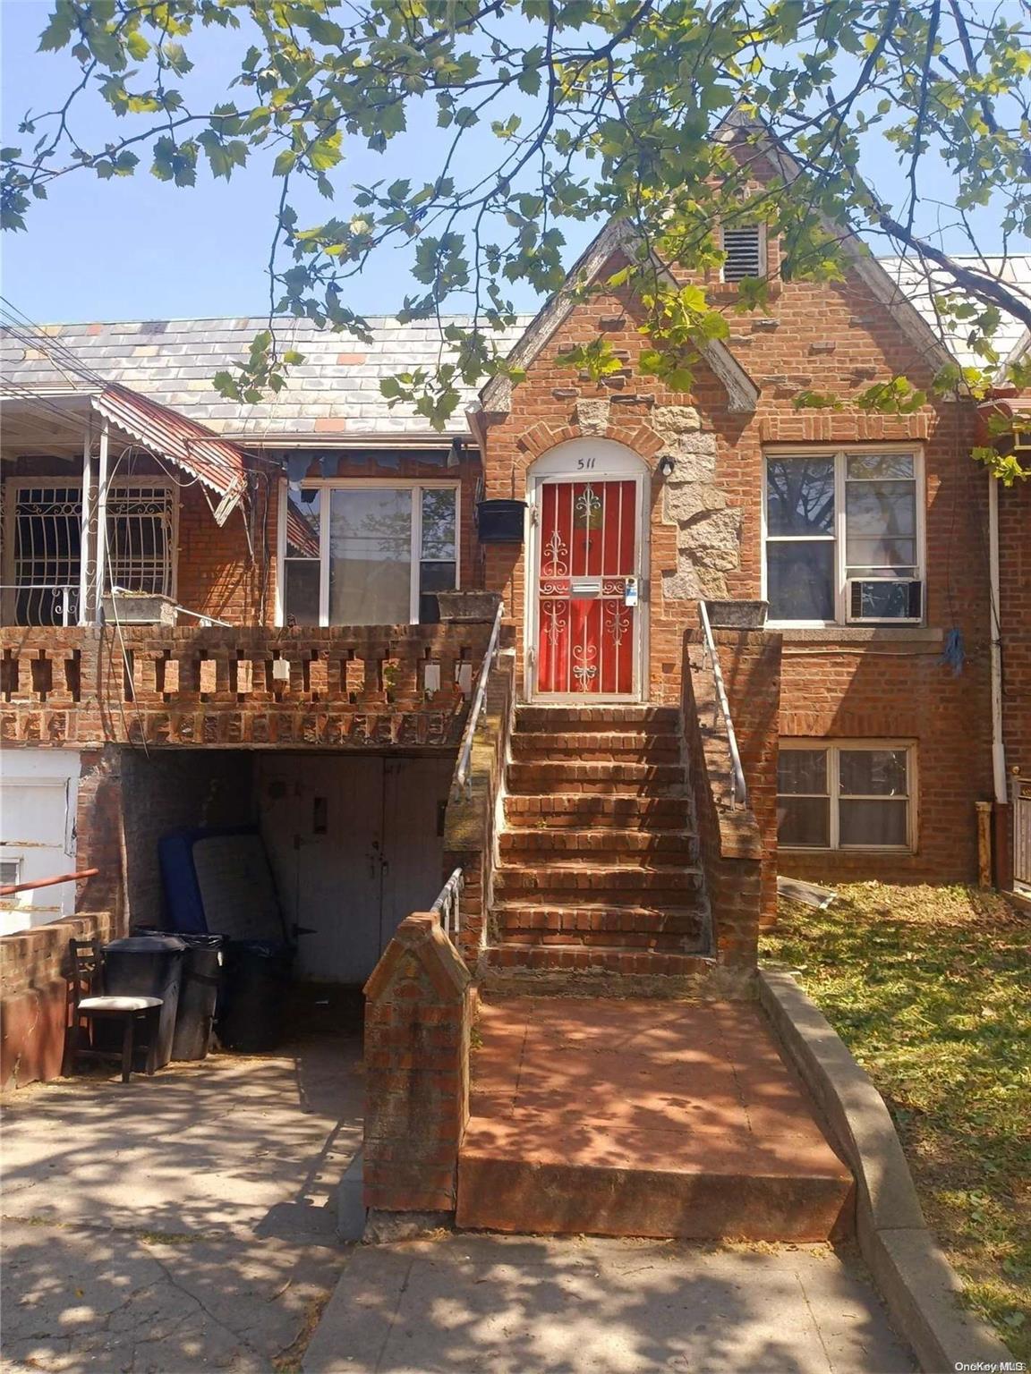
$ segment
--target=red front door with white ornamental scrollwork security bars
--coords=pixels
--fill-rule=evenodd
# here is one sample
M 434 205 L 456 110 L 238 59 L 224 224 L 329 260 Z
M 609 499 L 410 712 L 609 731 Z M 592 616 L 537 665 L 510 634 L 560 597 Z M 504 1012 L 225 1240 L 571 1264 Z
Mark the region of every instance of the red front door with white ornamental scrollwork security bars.
M 634 692 L 636 488 L 632 480 L 540 488 L 537 692 Z

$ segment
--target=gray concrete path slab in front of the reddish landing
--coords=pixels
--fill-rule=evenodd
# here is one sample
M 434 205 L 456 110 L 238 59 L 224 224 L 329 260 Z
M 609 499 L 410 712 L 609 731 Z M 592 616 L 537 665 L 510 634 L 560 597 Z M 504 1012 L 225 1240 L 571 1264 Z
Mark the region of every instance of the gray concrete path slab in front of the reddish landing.
M 304 1374 L 902 1374 L 828 1246 L 461 1237 L 359 1248 Z

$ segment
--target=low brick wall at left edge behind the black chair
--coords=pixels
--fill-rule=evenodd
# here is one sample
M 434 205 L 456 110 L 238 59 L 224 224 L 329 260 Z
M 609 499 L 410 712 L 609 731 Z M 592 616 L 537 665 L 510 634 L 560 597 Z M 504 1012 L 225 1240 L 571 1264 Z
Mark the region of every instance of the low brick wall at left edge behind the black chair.
M 69 941 L 110 940 L 110 912 L 51 921 L 0 937 L 0 1087 L 60 1077 L 69 1013 Z

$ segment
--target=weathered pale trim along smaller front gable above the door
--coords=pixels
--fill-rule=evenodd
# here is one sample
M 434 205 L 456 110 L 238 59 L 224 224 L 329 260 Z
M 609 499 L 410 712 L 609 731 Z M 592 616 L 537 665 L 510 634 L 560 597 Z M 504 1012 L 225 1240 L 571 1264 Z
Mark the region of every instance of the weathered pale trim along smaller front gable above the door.
M 573 262 L 566 273 L 565 284 L 533 316 L 533 320 L 509 353 L 509 361 L 518 363 L 520 367 L 529 367 L 575 309 L 576 286 L 580 282 L 592 282 L 613 253 L 623 251 L 627 257 L 632 258 L 639 247 L 641 239 L 634 227 L 625 220 L 613 220 L 606 224 L 594 242 Z M 669 284 L 676 286 L 676 280 L 669 269 L 652 250 L 649 250 L 649 257 L 658 275 Z M 698 350 L 726 387 L 730 409 L 744 414 L 755 411 L 759 400 L 759 387 L 726 344 L 715 339 L 707 341 L 698 345 Z M 480 393 L 478 408 L 489 414 L 505 414 L 510 407 L 511 382 L 506 376 L 491 378 Z

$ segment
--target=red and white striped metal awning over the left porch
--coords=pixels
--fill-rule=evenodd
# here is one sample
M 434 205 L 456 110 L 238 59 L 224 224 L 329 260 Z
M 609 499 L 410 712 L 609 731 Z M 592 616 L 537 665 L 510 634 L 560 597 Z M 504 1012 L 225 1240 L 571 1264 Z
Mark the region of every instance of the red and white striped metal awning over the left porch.
M 91 397 L 93 409 L 143 448 L 181 467 L 221 497 L 214 518 L 224 525 L 247 488 L 243 449 L 157 401 L 109 382 Z

